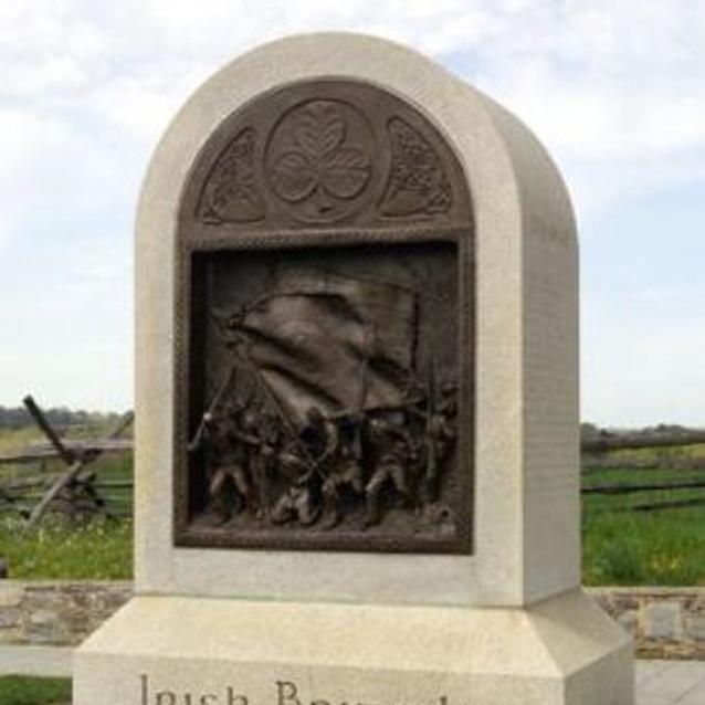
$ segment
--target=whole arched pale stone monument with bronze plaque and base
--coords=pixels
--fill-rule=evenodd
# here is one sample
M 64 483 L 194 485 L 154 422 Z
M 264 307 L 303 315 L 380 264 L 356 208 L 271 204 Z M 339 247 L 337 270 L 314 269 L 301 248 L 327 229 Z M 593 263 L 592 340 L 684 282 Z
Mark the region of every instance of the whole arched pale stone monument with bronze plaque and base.
M 633 702 L 579 587 L 574 218 L 515 117 L 274 42 L 167 130 L 136 259 L 136 597 L 76 705 Z

